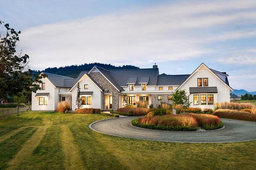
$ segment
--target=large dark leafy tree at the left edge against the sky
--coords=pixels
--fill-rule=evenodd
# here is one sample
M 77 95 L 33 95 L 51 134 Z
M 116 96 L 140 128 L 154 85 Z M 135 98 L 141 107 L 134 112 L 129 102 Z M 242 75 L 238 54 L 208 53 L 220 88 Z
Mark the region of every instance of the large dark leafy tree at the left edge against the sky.
M 0 27 L 4 22 L 0 21 Z M 20 41 L 20 31 L 16 32 L 9 24 L 0 29 L 0 98 L 8 98 L 23 90 L 36 92 L 41 89 L 41 78 L 46 75 L 33 75 L 28 65 L 29 56 L 16 51 L 16 43 Z

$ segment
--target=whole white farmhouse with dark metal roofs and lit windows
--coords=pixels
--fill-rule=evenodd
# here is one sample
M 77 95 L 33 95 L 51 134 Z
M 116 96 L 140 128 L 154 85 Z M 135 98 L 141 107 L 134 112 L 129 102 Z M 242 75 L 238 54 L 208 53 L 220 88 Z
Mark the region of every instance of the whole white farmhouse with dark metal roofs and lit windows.
M 202 63 L 192 74 L 159 75 L 157 66 L 148 69 L 106 70 L 94 66 L 90 71 L 82 71 L 77 78 L 44 73 L 41 90 L 32 93 L 32 110 L 54 111 L 57 104 L 68 101 L 72 110 L 76 107 L 77 84 L 81 88 L 82 108 L 102 110 L 124 107 L 123 95 L 127 103 L 136 101 L 153 104 L 171 103 L 172 94 L 185 90 L 191 107 L 213 109 L 215 102 L 229 102 L 230 91 L 225 72 L 208 68 Z

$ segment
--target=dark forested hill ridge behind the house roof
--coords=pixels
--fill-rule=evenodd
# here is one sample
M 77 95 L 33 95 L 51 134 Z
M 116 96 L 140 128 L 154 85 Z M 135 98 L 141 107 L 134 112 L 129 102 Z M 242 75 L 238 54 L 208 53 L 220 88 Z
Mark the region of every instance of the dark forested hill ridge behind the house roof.
M 72 78 L 77 78 L 77 76 L 80 74 L 81 71 L 89 71 L 93 68 L 93 66 L 99 66 L 101 68 L 107 69 L 107 70 L 117 70 L 117 69 L 138 69 L 139 67 L 131 66 L 131 65 L 123 65 L 121 66 L 114 66 L 110 64 L 102 64 L 102 63 L 85 63 L 83 65 L 72 65 L 72 66 L 65 66 L 65 67 L 53 67 L 53 68 L 46 68 L 44 70 L 32 70 L 33 74 L 39 75 L 41 72 L 46 73 L 52 73 Z

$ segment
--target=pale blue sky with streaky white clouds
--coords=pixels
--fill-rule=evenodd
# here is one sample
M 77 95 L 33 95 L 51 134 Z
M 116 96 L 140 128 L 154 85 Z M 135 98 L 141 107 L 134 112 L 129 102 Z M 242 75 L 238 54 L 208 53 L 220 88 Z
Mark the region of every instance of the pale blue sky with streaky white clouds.
M 202 62 L 256 91 L 256 1 L 0 0 L 31 69 L 101 62 L 191 74 Z

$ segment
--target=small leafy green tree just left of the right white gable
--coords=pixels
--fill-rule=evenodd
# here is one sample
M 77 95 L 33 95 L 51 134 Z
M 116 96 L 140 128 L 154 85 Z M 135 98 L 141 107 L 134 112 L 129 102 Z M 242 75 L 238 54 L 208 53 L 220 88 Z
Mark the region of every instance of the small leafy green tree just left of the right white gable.
M 171 98 L 173 104 L 182 104 L 184 107 L 189 107 L 192 102 L 188 101 L 188 96 L 185 90 L 176 90 Z

